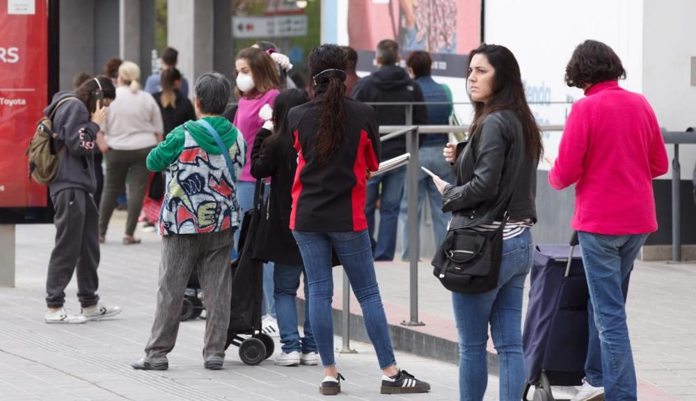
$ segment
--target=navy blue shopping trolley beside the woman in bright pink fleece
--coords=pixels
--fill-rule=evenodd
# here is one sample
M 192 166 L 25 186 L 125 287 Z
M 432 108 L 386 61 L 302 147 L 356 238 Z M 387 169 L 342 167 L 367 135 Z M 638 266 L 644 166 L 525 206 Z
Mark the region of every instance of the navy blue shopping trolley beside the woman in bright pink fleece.
M 624 299 L 628 291 L 624 281 Z M 553 398 L 551 386 L 580 386 L 587 357 L 587 290 L 577 233 L 569 245 L 537 245 L 522 336 L 527 386 L 534 401 Z

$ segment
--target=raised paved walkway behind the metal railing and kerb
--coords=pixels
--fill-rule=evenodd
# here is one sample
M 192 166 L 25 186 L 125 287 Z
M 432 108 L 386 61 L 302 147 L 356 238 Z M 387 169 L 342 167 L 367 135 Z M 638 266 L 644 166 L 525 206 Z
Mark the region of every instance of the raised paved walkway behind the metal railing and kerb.
M 409 267 L 378 262 L 377 280 L 385 302 L 409 308 Z M 338 272 L 335 279 L 340 280 Z M 450 294 L 419 265 L 420 312 L 453 319 Z M 628 329 L 639 379 L 639 399 L 696 400 L 696 263 L 635 262 L 628 290 Z M 529 278 L 525 284 L 526 312 Z M 402 320 L 409 320 L 404 313 Z M 428 324 L 427 318 L 421 320 Z M 452 323 L 453 324 L 453 323 Z

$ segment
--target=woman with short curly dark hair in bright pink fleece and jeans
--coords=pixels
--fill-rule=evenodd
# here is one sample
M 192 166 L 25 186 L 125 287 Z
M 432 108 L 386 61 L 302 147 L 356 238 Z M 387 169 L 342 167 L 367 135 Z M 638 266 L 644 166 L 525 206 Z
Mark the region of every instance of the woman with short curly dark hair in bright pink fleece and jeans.
M 555 189 L 576 184 L 571 227 L 578 231 L 590 290 L 585 384 L 574 401 L 636 400 L 635 368 L 622 283 L 649 233 L 657 230 L 652 179 L 667 173 L 667 153 L 645 97 L 619 88 L 626 72 L 594 40 L 576 47 L 566 83 L 585 91 L 573 105 L 558 158 Z

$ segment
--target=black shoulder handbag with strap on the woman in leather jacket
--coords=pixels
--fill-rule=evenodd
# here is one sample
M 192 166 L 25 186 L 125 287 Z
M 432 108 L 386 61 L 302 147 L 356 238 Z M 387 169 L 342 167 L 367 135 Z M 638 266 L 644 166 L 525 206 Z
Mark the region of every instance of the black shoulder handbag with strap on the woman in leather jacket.
M 516 168 L 516 182 L 519 168 Z M 483 294 L 498 286 L 500 262 L 503 259 L 503 230 L 507 224 L 507 208 L 514 187 L 505 202 L 505 216 L 495 231 L 476 232 L 459 228 L 449 230 L 445 241 L 431 262 L 433 274 L 450 291 L 462 294 Z

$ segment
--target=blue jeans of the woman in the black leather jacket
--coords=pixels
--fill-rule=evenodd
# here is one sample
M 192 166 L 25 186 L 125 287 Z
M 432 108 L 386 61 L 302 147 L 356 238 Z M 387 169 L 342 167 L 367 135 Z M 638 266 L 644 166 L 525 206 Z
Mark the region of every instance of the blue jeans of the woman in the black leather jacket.
M 459 333 L 459 400 L 483 400 L 488 384 L 486 345 L 491 324 L 500 365 L 501 401 L 518 401 L 525 386 L 522 355 L 522 298 L 534 262 L 532 234 L 503 241 L 498 287 L 484 294 L 452 292 Z

